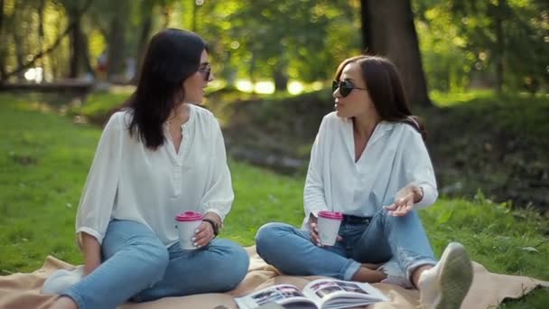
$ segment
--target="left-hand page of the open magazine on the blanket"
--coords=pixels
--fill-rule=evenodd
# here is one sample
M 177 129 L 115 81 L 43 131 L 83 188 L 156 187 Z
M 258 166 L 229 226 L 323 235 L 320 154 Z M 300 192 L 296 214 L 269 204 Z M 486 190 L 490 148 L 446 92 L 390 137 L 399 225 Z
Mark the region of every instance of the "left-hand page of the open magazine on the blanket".
M 292 285 L 269 286 L 250 295 L 237 297 L 235 301 L 240 309 L 253 309 L 268 303 L 281 304 L 284 308 L 317 308 L 316 304 Z

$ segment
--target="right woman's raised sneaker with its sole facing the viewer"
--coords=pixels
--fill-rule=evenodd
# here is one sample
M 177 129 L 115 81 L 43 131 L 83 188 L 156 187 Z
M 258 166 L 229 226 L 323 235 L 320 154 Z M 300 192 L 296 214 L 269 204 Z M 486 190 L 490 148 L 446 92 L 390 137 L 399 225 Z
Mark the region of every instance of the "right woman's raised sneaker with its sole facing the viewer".
M 473 266 L 465 248 L 451 242 L 437 265 L 419 278 L 420 302 L 428 309 L 460 309 L 473 282 Z

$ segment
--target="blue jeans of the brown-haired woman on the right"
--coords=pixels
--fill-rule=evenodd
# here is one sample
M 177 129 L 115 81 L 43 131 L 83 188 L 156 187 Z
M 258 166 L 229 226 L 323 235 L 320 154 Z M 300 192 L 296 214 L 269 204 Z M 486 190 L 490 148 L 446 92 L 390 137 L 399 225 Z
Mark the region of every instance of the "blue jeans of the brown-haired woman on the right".
M 256 249 L 265 262 L 293 276 L 351 280 L 361 263 L 384 263 L 394 258 L 410 279 L 415 268 L 436 264 L 416 211 L 394 217 L 380 210 L 362 223 L 343 221 L 339 234 L 343 240 L 319 248 L 307 229 L 268 223 L 257 231 Z

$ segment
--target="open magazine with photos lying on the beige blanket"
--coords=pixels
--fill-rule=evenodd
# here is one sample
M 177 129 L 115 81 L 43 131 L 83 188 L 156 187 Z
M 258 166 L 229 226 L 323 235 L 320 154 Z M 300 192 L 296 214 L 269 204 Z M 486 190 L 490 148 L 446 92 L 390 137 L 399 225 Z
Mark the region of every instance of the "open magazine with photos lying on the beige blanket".
M 292 285 L 277 285 L 235 298 L 240 309 L 253 309 L 267 303 L 281 304 L 284 308 L 337 309 L 388 300 L 374 286 L 336 279 L 314 280 L 302 291 Z

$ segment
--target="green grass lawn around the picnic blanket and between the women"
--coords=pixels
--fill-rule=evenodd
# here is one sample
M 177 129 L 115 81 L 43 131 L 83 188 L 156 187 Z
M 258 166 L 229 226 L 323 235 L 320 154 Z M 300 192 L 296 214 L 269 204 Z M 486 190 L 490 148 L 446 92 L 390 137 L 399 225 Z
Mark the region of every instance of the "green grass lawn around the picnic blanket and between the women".
M 0 94 L 0 275 L 32 271 L 47 255 L 82 261 L 74 217 L 100 130 L 73 124 L 41 100 Z M 249 246 L 265 222 L 301 223 L 302 176 L 234 161 L 230 168 L 236 201 L 222 237 Z M 549 280 L 549 221 L 534 212 L 511 211 L 479 193 L 473 201 L 441 198 L 421 214 L 437 257 L 459 240 L 490 271 Z M 541 289 L 500 307 L 547 304 L 549 290 Z

